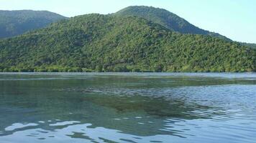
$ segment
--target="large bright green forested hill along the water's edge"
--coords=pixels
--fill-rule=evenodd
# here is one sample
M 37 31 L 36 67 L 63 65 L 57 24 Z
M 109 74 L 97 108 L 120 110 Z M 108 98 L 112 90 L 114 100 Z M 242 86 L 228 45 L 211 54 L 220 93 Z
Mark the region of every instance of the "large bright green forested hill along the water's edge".
M 1 71 L 255 71 L 255 49 L 138 17 L 87 14 L 0 40 Z

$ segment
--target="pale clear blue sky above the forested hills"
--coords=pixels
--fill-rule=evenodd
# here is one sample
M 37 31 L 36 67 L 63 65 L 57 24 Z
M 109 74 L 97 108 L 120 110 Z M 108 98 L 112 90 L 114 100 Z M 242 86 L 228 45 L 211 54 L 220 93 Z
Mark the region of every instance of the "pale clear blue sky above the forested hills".
M 0 10 L 47 10 L 69 17 L 135 5 L 167 9 L 201 29 L 256 43 L 255 0 L 0 0 Z

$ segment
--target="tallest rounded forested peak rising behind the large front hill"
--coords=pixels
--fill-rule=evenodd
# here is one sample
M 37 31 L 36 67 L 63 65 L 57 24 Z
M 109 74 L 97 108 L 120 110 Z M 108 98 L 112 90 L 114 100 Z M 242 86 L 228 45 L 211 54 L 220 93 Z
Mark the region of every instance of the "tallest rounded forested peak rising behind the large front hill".
M 185 19 L 180 18 L 176 14 L 171 13 L 170 11 L 152 6 L 129 6 L 121 11 L 117 11 L 114 15 L 139 16 L 157 24 L 161 24 L 168 29 L 173 29 L 173 31 L 178 31 L 182 34 L 203 34 L 230 40 L 220 34 L 200 29 L 197 26 L 190 24 Z

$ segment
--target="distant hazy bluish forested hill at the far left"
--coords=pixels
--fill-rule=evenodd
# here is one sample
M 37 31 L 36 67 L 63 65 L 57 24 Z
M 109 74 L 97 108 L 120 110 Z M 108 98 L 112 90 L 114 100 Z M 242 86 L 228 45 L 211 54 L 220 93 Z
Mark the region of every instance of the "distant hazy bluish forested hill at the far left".
M 0 11 L 0 38 L 40 29 L 60 19 L 66 19 L 66 17 L 49 11 Z

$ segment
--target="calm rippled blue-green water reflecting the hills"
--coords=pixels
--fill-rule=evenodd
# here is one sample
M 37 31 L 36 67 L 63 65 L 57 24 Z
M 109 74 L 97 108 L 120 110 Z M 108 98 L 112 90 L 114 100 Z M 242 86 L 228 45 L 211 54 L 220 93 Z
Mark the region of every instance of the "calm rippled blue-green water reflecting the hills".
M 256 142 L 256 74 L 0 74 L 0 142 Z

